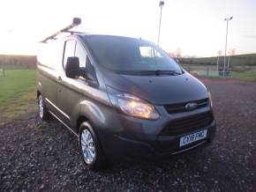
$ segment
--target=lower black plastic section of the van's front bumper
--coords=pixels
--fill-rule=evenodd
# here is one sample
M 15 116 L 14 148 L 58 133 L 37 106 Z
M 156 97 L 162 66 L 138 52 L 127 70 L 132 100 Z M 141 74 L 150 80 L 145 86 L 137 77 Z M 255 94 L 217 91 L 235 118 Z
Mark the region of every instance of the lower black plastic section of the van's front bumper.
M 187 144 L 183 147 L 179 147 L 180 137 L 190 135 L 202 129 L 193 129 L 192 131 L 173 136 L 154 137 L 151 135 L 144 135 L 143 137 L 139 137 L 139 139 L 125 137 L 123 134 L 108 134 L 108 139 L 103 139 L 103 150 L 105 151 L 107 157 L 111 160 L 162 160 L 184 151 L 190 151 L 201 145 L 209 144 L 215 137 L 215 120 L 204 129 L 207 129 L 207 137 L 205 139 L 199 140 L 192 144 Z

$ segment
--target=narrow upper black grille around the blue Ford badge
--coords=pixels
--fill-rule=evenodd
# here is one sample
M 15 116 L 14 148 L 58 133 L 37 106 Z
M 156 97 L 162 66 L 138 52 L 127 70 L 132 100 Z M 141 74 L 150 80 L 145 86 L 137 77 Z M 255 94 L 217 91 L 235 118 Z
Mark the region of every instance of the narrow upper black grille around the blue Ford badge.
M 165 105 L 164 107 L 169 114 L 184 113 L 187 111 L 185 108 L 185 105 L 188 103 L 196 103 L 198 105 L 197 108 L 201 108 L 201 107 L 207 107 L 209 105 L 209 100 L 208 99 L 193 100 L 190 102 L 169 104 L 169 105 Z

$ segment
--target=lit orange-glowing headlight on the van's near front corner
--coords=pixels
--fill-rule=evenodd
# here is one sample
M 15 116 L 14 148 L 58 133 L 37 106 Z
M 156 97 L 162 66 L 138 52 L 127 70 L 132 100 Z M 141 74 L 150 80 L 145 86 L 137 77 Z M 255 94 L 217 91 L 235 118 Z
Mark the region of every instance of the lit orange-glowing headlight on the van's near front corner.
M 149 120 L 159 118 L 159 114 L 153 105 L 145 100 L 140 100 L 132 94 L 109 94 L 109 99 L 111 103 L 124 112 L 124 114 Z

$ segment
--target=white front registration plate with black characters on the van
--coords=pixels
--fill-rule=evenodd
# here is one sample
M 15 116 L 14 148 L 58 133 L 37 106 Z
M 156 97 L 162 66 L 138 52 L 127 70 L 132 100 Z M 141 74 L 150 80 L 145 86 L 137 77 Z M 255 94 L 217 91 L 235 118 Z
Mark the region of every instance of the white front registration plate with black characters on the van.
M 199 141 L 207 137 L 207 129 L 201 130 L 196 133 L 192 133 L 191 135 L 180 137 L 179 146 L 182 147 L 186 144 L 191 144 L 193 142 Z

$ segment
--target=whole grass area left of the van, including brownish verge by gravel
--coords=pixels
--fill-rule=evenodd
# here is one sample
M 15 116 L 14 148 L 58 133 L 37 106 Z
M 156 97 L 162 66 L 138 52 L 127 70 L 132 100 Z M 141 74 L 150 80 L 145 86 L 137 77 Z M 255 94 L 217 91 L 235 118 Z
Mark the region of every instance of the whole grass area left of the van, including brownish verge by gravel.
M 0 73 L 0 122 L 35 110 L 35 70 L 5 70 Z

